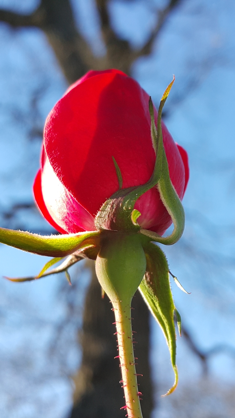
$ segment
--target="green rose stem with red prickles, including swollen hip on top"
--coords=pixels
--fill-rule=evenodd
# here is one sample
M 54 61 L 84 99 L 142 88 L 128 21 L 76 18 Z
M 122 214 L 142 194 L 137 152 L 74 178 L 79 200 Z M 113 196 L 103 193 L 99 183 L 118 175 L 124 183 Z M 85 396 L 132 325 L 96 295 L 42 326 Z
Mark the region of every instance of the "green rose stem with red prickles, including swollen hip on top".
M 140 409 L 131 328 L 131 301 L 146 272 L 142 236 L 104 231 L 96 260 L 97 278 L 112 302 L 128 418 L 143 418 Z

